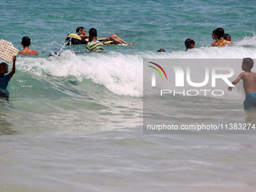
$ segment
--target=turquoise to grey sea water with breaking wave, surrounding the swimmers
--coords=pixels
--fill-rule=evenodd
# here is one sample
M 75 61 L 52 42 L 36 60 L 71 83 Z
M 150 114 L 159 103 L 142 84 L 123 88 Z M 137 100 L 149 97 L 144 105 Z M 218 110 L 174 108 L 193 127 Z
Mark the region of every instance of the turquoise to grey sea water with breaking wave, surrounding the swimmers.
M 17 56 L 10 102 L 1 102 L 0 191 L 256 190 L 255 134 L 142 128 L 143 59 L 255 62 L 255 8 L 254 1 L 2 1 L 0 38 L 22 50 L 29 36 L 39 56 Z M 84 45 L 65 45 L 78 26 L 136 44 L 84 53 Z M 210 47 L 218 27 L 232 46 Z M 184 51 L 186 38 L 195 49 Z M 240 64 L 233 69 L 242 72 Z M 242 83 L 227 94 L 168 99 L 166 115 L 179 123 L 254 123 L 254 111 L 243 110 Z

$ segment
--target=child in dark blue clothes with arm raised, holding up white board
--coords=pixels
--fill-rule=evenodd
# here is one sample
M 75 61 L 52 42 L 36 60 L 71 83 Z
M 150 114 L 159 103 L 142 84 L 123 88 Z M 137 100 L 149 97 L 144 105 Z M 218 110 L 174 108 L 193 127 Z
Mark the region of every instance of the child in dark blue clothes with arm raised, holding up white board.
M 16 56 L 13 56 L 13 69 L 8 75 L 5 75 L 5 73 L 8 73 L 8 64 L 0 62 L 0 98 L 4 98 L 6 100 L 9 100 L 10 93 L 8 92 L 7 87 L 11 77 L 15 73 L 15 62 Z

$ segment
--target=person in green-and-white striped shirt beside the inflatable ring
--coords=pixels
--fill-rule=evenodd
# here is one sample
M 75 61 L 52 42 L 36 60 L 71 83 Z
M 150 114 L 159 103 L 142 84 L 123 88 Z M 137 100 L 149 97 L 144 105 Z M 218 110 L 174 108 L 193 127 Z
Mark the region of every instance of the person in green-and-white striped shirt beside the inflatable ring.
M 89 41 L 90 42 L 87 43 L 87 52 L 90 52 L 90 51 L 102 52 L 103 51 L 103 44 L 102 44 L 102 42 L 97 40 L 97 31 L 94 28 L 89 30 Z

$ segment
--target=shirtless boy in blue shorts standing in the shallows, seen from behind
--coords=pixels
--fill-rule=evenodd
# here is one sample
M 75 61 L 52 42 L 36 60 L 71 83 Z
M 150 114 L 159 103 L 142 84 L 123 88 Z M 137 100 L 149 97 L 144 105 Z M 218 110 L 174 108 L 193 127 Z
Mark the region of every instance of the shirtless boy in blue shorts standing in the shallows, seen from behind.
M 243 88 L 245 90 L 245 102 L 243 105 L 245 109 L 256 108 L 256 73 L 251 72 L 253 67 L 253 59 L 242 59 L 242 73 L 232 82 L 233 85 L 237 84 L 241 79 L 243 81 Z M 228 87 L 229 91 L 232 91 L 234 87 Z

